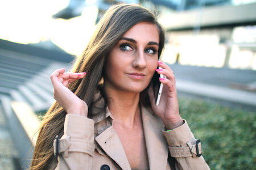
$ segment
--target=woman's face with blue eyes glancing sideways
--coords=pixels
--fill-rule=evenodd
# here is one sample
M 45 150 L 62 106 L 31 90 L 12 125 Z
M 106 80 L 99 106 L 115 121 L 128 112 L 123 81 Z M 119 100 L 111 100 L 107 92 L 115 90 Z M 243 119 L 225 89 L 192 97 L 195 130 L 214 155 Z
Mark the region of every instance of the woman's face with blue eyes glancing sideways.
M 155 24 L 131 27 L 110 50 L 105 63 L 105 88 L 141 92 L 158 66 L 159 32 Z

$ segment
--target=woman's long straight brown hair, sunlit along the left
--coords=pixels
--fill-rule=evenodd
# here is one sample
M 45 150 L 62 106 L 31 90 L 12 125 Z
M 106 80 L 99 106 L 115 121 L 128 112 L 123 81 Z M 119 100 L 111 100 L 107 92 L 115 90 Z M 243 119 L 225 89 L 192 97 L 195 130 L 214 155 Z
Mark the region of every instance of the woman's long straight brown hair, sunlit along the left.
M 120 4 L 114 5 L 106 11 L 96 31 L 85 48 L 84 54 L 76 58 L 72 72 L 86 72 L 83 79 L 69 84 L 68 88 L 88 105 L 88 117 L 92 117 L 93 96 L 100 90 L 105 100 L 108 99 L 99 83 L 103 79 L 104 63 L 110 49 L 118 42 L 122 35 L 133 25 L 139 22 L 154 23 L 159 30 L 158 57 L 164 46 L 164 31 L 156 21 L 155 15 L 140 5 Z M 142 93 L 145 94 L 145 91 Z M 146 96 L 146 95 L 144 95 Z M 53 140 L 56 135 L 63 136 L 64 120 L 66 116 L 64 109 L 55 101 L 48 109 L 39 128 L 34 155 L 30 169 L 48 169 L 48 165 L 55 159 L 53 156 Z

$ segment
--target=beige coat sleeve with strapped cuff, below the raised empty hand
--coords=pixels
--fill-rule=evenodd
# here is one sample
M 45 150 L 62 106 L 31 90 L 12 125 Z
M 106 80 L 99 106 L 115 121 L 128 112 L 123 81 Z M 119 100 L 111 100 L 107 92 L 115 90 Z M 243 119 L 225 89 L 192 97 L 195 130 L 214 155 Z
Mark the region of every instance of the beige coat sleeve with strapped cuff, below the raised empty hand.
M 92 169 L 94 153 L 94 121 L 84 116 L 67 114 L 64 123 L 64 135 L 58 146 L 58 164 L 56 169 Z

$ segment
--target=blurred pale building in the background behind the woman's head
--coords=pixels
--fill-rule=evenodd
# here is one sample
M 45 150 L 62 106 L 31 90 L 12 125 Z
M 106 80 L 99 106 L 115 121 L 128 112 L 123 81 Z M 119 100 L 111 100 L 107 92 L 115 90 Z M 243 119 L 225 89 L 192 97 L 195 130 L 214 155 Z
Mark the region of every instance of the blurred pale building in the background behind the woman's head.
M 53 18 L 70 19 L 97 7 L 97 19 L 113 4 L 141 3 L 166 29 L 162 60 L 181 65 L 256 70 L 256 0 L 70 0 Z

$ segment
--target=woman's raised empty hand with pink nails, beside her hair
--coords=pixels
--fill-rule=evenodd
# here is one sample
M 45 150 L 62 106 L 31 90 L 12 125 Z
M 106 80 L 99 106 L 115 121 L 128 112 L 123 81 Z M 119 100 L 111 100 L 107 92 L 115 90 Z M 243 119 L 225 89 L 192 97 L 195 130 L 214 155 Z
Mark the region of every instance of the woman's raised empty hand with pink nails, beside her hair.
M 69 83 L 84 78 L 85 74 L 65 73 L 65 68 L 63 68 L 55 70 L 50 76 L 53 86 L 53 97 L 68 114 L 79 114 L 87 117 L 88 106 L 85 101 L 81 100 L 67 88 Z

